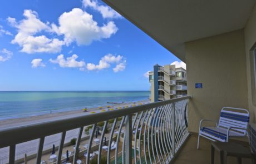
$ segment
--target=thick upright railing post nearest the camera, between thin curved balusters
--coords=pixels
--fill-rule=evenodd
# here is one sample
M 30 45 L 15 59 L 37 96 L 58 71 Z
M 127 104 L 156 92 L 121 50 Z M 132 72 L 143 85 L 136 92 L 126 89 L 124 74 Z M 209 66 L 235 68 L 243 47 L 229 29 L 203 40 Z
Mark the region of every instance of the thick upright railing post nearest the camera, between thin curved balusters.
M 125 163 L 131 164 L 131 140 L 132 140 L 132 115 L 127 115 L 125 118 Z

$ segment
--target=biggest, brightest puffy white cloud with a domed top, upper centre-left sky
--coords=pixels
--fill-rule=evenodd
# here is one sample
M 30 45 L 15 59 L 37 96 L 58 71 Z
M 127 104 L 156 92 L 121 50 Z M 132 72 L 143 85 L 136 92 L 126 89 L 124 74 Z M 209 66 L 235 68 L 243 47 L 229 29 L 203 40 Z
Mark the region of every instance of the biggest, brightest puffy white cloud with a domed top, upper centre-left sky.
M 72 11 L 63 13 L 58 22 L 60 26 L 52 24 L 52 29 L 57 34 L 64 34 L 66 44 L 76 41 L 78 45 L 88 45 L 92 41 L 110 38 L 118 30 L 112 21 L 101 27 L 98 26 L 92 15 L 80 8 L 73 8 Z

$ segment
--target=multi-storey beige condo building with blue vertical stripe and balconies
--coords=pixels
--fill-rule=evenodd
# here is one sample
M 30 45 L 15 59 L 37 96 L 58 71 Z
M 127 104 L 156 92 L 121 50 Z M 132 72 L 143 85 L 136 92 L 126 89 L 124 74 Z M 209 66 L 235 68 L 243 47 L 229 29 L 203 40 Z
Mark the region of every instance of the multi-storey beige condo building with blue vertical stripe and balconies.
M 186 69 L 176 68 L 175 64 L 155 64 L 154 71 L 149 72 L 149 82 L 151 102 L 187 96 Z

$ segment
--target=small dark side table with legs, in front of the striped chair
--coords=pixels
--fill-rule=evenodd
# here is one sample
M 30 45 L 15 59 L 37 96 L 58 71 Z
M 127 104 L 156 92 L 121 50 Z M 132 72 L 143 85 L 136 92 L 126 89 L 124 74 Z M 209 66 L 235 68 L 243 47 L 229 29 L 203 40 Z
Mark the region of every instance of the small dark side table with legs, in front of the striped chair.
M 233 142 L 213 142 L 211 143 L 211 164 L 214 164 L 214 151 L 220 152 L 220 164 L 227 163 L 227 157 L 237 157 L 238 163 L 242 163 L 242 158 L 252 158 L 253 163 L 254 157 L 249 147 L 244 147 Z

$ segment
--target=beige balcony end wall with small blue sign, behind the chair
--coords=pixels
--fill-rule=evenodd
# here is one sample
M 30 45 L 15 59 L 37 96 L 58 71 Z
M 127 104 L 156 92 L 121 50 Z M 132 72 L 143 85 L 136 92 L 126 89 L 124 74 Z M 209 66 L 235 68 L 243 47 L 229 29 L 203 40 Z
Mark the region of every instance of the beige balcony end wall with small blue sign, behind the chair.
M 248 108 L 243 30 L 185 46 L 188 95 L 193 96 L 188 106 L 189 131 L 198 132 L 203 118 L 218 121 L 221 107 Z M 195 83 L 203 83 L 203 88 L 195 88 Z

